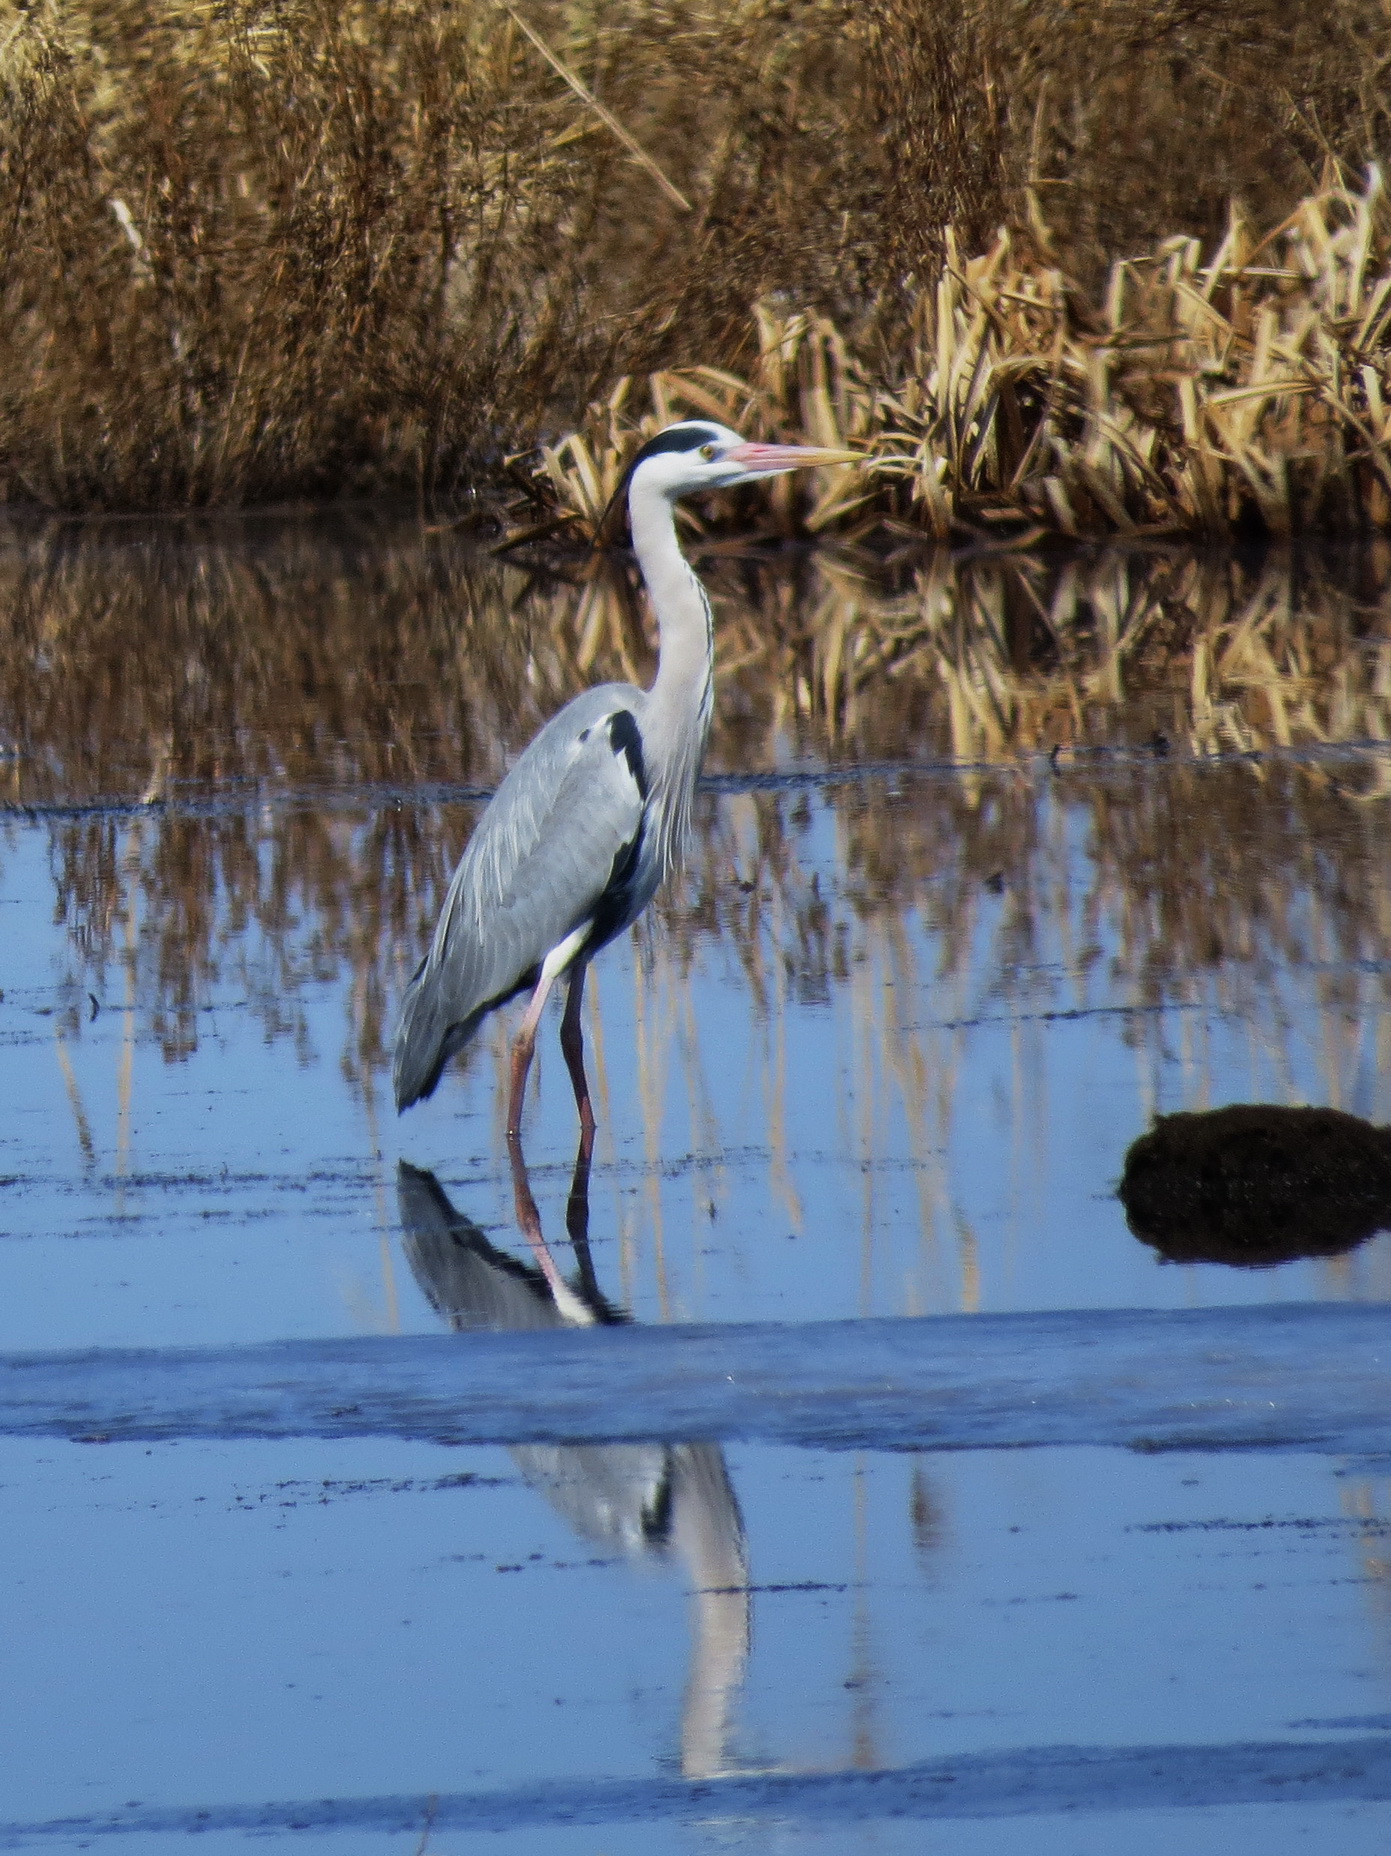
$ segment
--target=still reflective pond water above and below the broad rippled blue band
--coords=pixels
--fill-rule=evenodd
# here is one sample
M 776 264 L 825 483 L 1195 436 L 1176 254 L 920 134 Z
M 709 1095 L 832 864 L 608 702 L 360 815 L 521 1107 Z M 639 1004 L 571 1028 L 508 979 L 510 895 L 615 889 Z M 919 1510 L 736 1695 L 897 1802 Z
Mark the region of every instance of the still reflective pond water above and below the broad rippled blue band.
M 1202 607 L 1216 570 L 1183 601 L 1179 570 L 1038 568 L 1034 635 L 1016 568 L 875 607 L 836 564 L 711 564 L 732 674 L 698 846 L 587 995 L 609 1305 L 1387 1301 L 1385 1234 L 1172 1264 L 1116 1199 L 1155 1114 L 1391 1121 L 1380 594 L 1274 564 Z M 513 1216 L 507 1025 L 399 1121 L 386 1049 L 507 752 L 641 672 L 641 638 L 396 527 L 13 533 L 0 585 L 0 1351 L 559 1325 Z M 871 674 L 912 599 L 956 599 L 956 644 Z M 810 609 L 871 666 L 821 705 Z M 553 1023 L 527 1117 L 570 1271 Z M 431 1849 L 557 1856 L 1384 1847 L 1384 1463 L 904 1451 L 871 1416 L 825 1451 L 695 1394 L 657 1444 L 607 1440 L 643 1437 L 641 1398 L 604 1425 L 0 1440 L 0 1839 L 217 1845 L 260 1811 L 416 1849 L 435 1798 Z

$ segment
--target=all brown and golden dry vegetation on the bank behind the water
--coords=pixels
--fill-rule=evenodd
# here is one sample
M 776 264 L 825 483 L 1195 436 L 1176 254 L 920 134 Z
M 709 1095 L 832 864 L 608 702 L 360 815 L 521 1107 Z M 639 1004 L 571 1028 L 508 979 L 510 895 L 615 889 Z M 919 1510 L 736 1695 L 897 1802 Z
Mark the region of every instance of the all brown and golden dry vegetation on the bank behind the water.
M 1382 0 L 0 0 L 0 496 L 526 529 L 706 405 L 888 460 L 821 529 L 1384 525 L 1389 65 Z

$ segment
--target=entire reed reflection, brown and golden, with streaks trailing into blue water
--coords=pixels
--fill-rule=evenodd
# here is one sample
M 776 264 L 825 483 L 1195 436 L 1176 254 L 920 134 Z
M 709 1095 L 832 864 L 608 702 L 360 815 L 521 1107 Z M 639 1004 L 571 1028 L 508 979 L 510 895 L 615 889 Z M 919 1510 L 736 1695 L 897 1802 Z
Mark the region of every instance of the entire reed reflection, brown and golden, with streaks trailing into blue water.
M 962 1307 L 975 1238 L 936 1156 L 984 1017 L 1116 1013 L 1146 1106 L 1174 1043 L 1203 1102 L 1207 1026 L 1241 1021 L 1242 1093 L 1376 1108 L 1358 1089 L 1391 1075 L 1384 544 L 1335 575 L 1140 551 L 702 572 L 726 785 L 635 943 L 650 1158 L 663 1076 L 715 1099 L 691 993 L 721 967 L 793 1227 L 789 1008 L 828 1008 L 852 1050 L 843 1136 L 871 1167 L 901 1114 Z M 65 1052 L 89 995 L 171 1063 L 230 1004 L 303 1062 L 336 1056 L 371 1104 L 481 794 L 579 685 L 643 679 L 646 651 L 611 577 L 414 523 L 0 529 L 0 804 L 46 839 Z M 1283 746 L 1317 754 L 1257 754 Z M 867 761 L 899 770 L 841 778 Z M 316 1019 L 327 986 L 342 1010 Z M 1023 1058 L 1010 1088 L 1025 1125 Z M 709 1153 L 702 1115 L 687 1141 Z

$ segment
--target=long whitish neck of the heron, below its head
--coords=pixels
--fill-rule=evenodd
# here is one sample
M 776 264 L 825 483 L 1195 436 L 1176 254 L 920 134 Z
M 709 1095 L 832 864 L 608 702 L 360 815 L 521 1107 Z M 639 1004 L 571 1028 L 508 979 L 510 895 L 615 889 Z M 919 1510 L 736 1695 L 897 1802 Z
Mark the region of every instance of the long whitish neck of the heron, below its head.
M 648 690 L 643 752 L 659 800 L 663 874 L 680 861 L 691 824 L 715 692 L 715 624 L 706 588 L 676 542 L 670 499 L 633 483 L 633 551 L 657 616 L 657 677 Z

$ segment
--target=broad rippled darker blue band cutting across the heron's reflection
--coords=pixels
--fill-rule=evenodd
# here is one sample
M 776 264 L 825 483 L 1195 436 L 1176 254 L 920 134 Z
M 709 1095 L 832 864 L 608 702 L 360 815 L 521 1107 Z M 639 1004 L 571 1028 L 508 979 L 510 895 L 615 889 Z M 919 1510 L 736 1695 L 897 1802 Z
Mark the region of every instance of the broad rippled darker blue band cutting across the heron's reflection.
M 509 1277 L 511 1281 L 511 1277 Z M 537 1299 L 516 1282 L 516 1295 Z M 594 1327 L 0 1357 L 0 1433 L 1378 1451 L 1374 1308 Z

